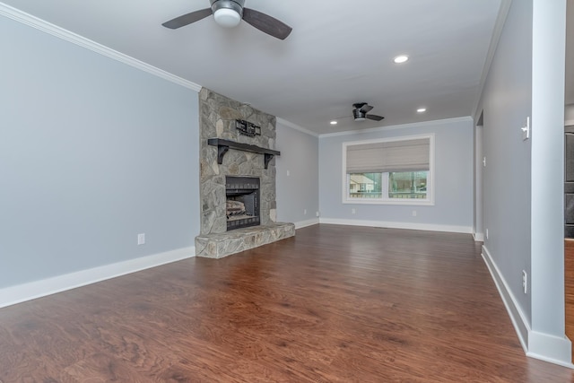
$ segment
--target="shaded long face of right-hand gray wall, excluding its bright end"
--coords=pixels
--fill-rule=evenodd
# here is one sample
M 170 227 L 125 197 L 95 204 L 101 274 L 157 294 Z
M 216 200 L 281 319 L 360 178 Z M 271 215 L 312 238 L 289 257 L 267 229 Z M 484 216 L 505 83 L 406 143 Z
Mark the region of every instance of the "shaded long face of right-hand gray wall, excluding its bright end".
M 524 313 L 530 300 L 521 271 L 530 274 L 530 147 L 520 126 L 532 116 L 532 1 L 512 2 L 483 90 L 484 240 Z M 506 190 L 506 192 L 501 192 Z

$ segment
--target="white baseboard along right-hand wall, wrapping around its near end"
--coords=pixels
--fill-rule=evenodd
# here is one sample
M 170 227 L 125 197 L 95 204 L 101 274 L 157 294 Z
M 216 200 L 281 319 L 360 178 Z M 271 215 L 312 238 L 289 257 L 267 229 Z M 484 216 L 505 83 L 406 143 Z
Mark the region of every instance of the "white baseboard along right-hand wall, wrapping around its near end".
M 566 336 L 558 337 L 533 331 L 524 311 L 518 305 L 516 297 L 510 291 L 509 284 L 500 273 L 498 266 L 485 246 L 483 246 L 483 259 L 500 293 L 500 298 L 509 313 L 512 325 L 517 332 L 518 340 L 526 355 L 574 369 L 571 361 L 570 339 Z

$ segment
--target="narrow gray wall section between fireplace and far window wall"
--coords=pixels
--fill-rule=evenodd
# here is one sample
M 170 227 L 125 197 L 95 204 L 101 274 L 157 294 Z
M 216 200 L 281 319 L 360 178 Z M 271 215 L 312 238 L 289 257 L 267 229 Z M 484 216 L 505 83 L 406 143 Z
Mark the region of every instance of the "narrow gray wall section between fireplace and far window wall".
M 281 120 L 276 133 L 281 152 L 275 157 L 277 221 L 294 222 L 296 227 L 318 222 L 318 137 L 285 126 Z

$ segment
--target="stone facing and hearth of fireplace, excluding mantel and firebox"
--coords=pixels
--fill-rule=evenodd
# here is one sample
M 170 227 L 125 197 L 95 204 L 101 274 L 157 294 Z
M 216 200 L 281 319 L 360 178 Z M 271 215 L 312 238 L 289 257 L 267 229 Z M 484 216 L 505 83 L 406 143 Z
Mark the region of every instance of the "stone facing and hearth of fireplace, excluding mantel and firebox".
M 261 135 L 240 135 L 235 120 L 261 126 Z M 199 92 L 201 233 L 196 237 L 196 256 L 225 257 L 295 234 L 292 223 L 277 223 L 275 160 L 265 169 L 263 154 L 230 149 L 217 163 L 217 147 L 209 138 L 275 149 L 274 116 L 203 88 Z M 259 177 L 261 226 L 227 231 L 225 176 Z

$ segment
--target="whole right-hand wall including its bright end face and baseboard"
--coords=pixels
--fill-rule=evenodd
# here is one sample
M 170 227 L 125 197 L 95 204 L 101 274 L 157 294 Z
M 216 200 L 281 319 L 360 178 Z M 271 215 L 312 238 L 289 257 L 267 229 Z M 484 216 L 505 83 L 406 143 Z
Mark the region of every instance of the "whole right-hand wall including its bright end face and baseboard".
M 503 296 L 517 306 L 515 319 L 525 322 L 520 335 L 528 353 L 570 362 L 563 281 L 564 15 L 563 0 L 512 2 L 475 118 L 483 112 L 484 248 Z M 523 141 L 520 127 L 528 116 L 532 135 Z M 522 270 L 529 275 L 526 294 Z

